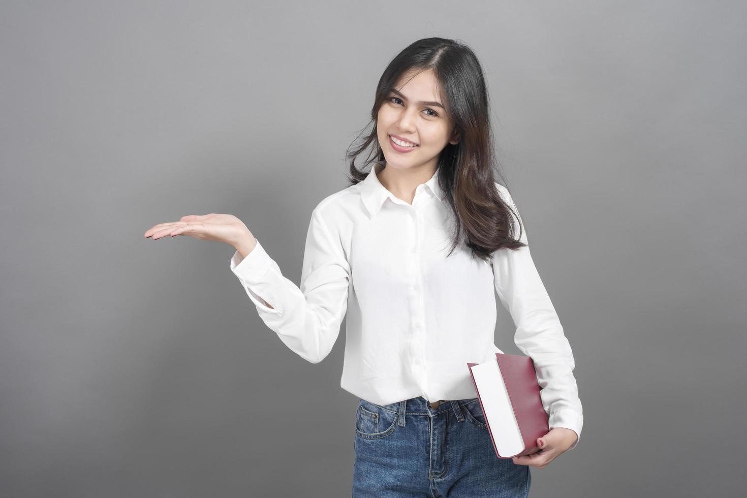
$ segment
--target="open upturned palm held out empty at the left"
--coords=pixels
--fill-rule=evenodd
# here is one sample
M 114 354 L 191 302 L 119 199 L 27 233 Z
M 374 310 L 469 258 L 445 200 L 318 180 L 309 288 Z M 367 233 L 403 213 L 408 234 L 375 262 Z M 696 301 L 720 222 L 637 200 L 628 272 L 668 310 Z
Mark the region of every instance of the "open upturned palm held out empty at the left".
M 247 225 L 232 214 L 190 214 L 181 217 L 179 221 L 158 223 L 145 232 L 145 237 L 153 237 L 153 240 L 167 235 L 190 235 L 199 240 L 215 240 L 227 243 L 247 254 L 256 244 Z

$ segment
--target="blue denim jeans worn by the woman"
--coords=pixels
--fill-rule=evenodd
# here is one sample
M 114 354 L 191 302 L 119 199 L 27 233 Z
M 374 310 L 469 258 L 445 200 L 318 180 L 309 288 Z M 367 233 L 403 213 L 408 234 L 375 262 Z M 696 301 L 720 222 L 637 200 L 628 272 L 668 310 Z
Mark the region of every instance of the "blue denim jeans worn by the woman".
M 477 398 L 356 411 L 353 498 L 527 497 L 529 466 L 498 458 Z

